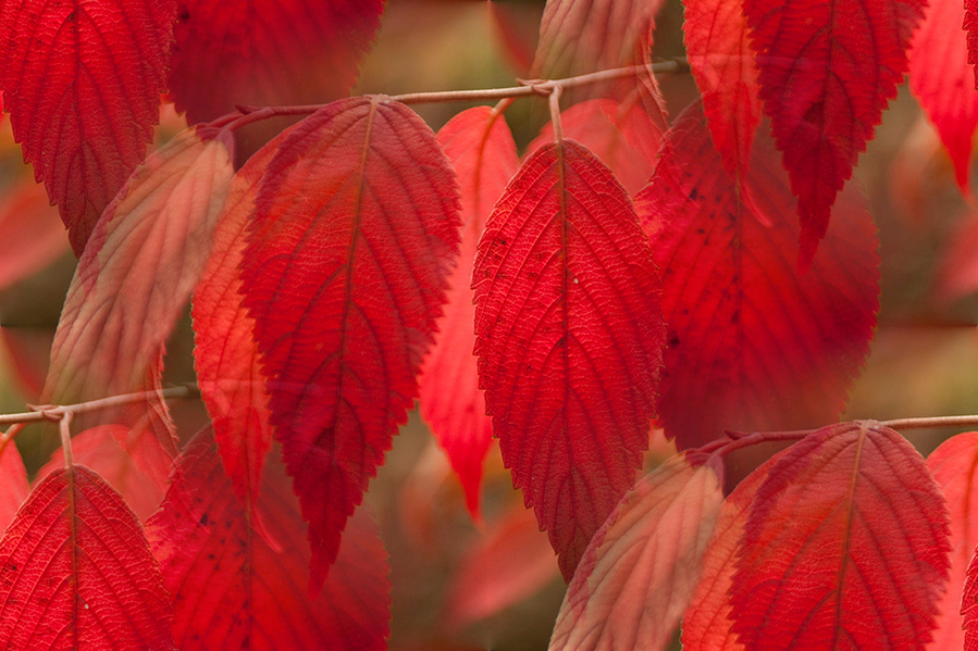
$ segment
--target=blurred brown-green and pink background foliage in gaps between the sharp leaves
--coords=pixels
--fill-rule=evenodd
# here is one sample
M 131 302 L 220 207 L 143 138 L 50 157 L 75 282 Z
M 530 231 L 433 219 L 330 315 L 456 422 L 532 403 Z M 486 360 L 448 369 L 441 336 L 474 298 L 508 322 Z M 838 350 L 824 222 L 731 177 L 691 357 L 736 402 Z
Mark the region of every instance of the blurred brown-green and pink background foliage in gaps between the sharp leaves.
M 355 93 L 396 95 L 511 86 L 528 74 L 543 0 L 389 0 Z M 683 54 L 682 8 L 657 17 L 655 58 Z M 689 75 L 659 79 L 670 114 L 695 99 Z M 417 107 L 433 129 L 470 104 Z M 517 143 L 542 126 L 542 102 L 507 111 Z M 164 108 L 159 138 L 184 125 Z M 880 229 L 879 328 L 846 418 L 978 412 L 978 205 L 954 183 L 950 160 L 904 87 L 856 168 Z M 38 400 L 50 340 L 75 259 L 44 190 L 22 163 L 9 124 L 0 129 L 0 412 Z M 193 381 L 185 318 L 168 345 L 166 380 Z M 174 404 L 185 436 L 207 417 Z M 915 431 L 928 453 L 953 431 Z M 17 438 L 28 470 L 51 450 L 41 426 Z M 671 450 L 653 433 L 648 464 Z M 770 450 L 739 458 L 746 472 Z M 545 649 L 564 596 L 546 536 L 511 488 L 498 449 L 486 462 L 483 513 L 473 522 L 445 455 L 412 414 L 395 438 L 368 501 L 389 550 L 392 649 Z

